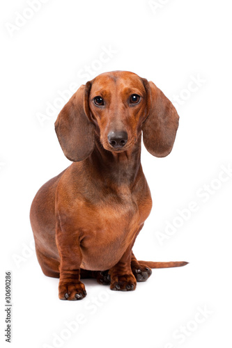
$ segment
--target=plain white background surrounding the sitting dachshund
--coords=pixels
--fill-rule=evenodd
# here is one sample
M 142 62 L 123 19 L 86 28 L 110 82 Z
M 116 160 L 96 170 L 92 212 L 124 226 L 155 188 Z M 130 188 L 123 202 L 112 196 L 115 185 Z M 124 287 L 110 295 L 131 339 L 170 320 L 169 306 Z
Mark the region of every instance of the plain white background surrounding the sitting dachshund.
M 10 347 L 231 347 L 232 177 L 222 174 L 232 164 L 231 3 L 154 3 L 157 8 L 148 0 L 49 0 L 32 13 L 24 0 L 1 4 L 0 317 L 5 343 L 4 274 L 11 270 Z M 17 13 L 31 18 L 10 35 Z M 105 63 L 104 47 L 114 51 Z M 110 292 L 86 280 L 86 299 L 60 301 L 59 280 L 42 274 L 31 248 L 29 209 L 40 186 L 70 164 L 54 132 L 65 100 L 42 124 L 38 113 L 46 114 L 47 103 L 73 82 L 84 84 L 80 75 L 88 67 L 88 79 L 130 70 L 169 99 L 178 96 L 173 152 L 164 159 L 142 152 L 153 210 L 134 253 L 190 264 L 153 270 L 134 292 Z M 197 211 L 184 210 L 183 221 L 180 210 L 191 201 Z M 173 221 L 181 226 L 159 242 L 157 232 L 167 237 Z

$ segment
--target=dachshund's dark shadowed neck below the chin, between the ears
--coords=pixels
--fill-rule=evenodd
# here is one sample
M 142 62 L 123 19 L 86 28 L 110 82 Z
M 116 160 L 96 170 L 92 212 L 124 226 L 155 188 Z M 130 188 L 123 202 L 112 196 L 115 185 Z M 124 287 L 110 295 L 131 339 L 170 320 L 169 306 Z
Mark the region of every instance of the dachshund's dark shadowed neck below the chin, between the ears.
M 95 148 L 88 157 L 88 164 L 94 166 L 99 177 L 111 185 L 133 186 L 141 171 L 141 134 L 133 147 L 123 152 L 111 152 L 103 148 L 95 136 Z

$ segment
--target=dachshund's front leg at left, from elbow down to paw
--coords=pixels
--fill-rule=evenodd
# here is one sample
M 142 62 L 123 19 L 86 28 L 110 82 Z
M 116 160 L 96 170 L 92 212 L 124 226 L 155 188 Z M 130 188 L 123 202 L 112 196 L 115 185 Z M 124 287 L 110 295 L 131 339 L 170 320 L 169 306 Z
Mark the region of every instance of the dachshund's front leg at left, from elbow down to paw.
M 68 228 L 56 228 L 56 244 L 59 249 L 61 263 L 59 266 L 59 299 L 80 300 L 86 296 L 84 284 L 80 281 L 80 265 L 82 253 L 79 240 Z

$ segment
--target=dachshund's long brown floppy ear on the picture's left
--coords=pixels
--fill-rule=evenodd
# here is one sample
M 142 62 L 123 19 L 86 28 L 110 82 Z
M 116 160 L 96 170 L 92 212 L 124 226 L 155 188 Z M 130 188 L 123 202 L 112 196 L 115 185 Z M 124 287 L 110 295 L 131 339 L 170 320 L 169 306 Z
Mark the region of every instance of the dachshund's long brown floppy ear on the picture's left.
M 95 126 L 89 120 L 88 94 L 91 82 L 72 95 L 55 122 L 56 135 L 70 161 L 86 159 L 94 148 Z

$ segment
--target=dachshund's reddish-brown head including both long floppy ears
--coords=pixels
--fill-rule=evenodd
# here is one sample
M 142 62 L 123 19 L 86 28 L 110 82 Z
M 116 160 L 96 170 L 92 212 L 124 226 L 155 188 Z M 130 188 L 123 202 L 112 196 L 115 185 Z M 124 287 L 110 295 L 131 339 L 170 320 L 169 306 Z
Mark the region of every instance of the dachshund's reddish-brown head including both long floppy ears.
M 55 129 L 71 161 L 91 154 L 95 134 L 105 150 L 123 152 L 133 147 L 141 131 L 148 152 L 165 157 L 173 148 L 178 119 L 173 104 L 153 82 L 114 71 L 82 85 L 59 113 Z

